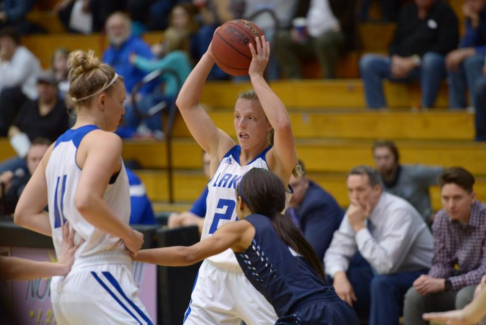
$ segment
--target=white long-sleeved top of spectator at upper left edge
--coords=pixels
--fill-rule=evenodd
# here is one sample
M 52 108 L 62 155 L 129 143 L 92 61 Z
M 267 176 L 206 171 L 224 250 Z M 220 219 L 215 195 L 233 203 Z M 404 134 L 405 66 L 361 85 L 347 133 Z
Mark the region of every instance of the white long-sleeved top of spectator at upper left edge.
M 18 46 L 10 61 L 0 61 L 0 91 L 21 86 L 29 99 L 37 98 L 37 75 L 41 71 L 39 59 L 24 46 Z

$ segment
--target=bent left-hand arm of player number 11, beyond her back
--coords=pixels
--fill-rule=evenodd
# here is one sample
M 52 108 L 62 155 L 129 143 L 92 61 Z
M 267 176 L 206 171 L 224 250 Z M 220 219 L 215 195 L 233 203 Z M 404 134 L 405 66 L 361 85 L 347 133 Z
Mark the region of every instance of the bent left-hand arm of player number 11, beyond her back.
M 45 170 L 53 147 L 52 144 L 42 157 L 34 175 L 20 195 L 14 213 L 16 225 L 46 236 L 52 236 L 52 229 L 49 214 L 44 211 L 48 202 Z

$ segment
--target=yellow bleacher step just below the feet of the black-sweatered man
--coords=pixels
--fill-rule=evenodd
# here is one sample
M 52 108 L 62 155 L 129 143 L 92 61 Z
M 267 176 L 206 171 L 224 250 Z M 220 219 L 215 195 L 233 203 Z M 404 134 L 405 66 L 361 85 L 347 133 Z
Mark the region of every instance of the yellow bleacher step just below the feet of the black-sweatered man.
M 228 121 L 233 109 L 209 109 L 214 123 L 228 134 L 234 129 Z M 430 110 L 411 113 L 410 110 L 365 111 L 349 109 L 291 109 L 294 136 L 300 139 L 344 138 L 403 140 L 473 140 L 474 115 L 468 112 Z M 404 127 L 406 126 L 406 127 Z M 455 132 L 451 132 L 454 129 Z M 370 132 L 370 130 L 373 130 Z M 190 138 L 191 134 L 180 116 L 175 120 L 174 136 Z

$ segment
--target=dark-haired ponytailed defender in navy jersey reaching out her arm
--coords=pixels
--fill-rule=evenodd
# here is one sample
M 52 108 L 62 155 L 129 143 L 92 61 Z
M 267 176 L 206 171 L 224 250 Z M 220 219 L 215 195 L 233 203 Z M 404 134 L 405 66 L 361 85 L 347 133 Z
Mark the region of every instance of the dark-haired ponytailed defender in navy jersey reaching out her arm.
M 142 250 L 134 260 L 184 266 L 231 248 L 245 276 L 275 308 L 276 324 L 358 325 L 354 310 L 324 280 L 312 246 L 293 221 L 280 214 L 285 187 L 278 176 L 252 168 L 236 195 L 238 222 L 190 247 Z

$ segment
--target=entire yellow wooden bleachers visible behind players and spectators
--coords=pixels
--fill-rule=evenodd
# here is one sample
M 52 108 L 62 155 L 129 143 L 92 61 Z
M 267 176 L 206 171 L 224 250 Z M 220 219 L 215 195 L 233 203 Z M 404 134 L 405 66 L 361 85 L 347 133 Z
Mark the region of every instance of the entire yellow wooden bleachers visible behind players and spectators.
M 464 18 L 463 0 L 449 0 L 459 17 L 461 31 Z M 43 26 L 49 35 L 25 36 L 22 43 L 40 59 L 43 67 L 50 65 L 58 47 L 93 49 L 101 55 L 107 47 L 104 34 L 67 34 L 57 16 L 52 13 L 56 0 L 37 1 L 28 18 Z M 332 193 L 338 202 L 348 204 L 345 186 L 346 172 L 356 164 L 373 164 L 371 144 L 374 139 L 396 140 L 403 163 L 461 165 L 476 177 L 478 198 L 486 201 L 486 145 L 473 143 L 474 115 L 450 112 L 447 108 L 447 88 L 440 90 L 436 107 L 428 111 L 412 111 L 420 103 L 417 85 L 385 82 L 388 111 L 367 111 L 363 83 L 359 79 L 358 60 L 361 53 L 386 53 L 395 25 L 364 23 L 359 27 L 363 44 L 360 52 L 351 52 L 338 63 L 339 80 L 283 80 L 271 87 L 289 108 L 297 153 L 307 166 L 309 176 Z M 153 44 L 163 38 L 162 32 L 146 33 L 144 39 Z M 306 64 L 304 75 L 316 78 L 320 67 Z M 215 124 L 234 136 L 232 109 L 237 94 L 248 90 L 248 83 L 211 82 L 204 89 L 201 104 Z M 125 141 L 123 158 L 137 160 L 144 169 L 137 171 L 154 200 L 157 211 L 181 211 L 189 207 L 206 183 L 201 172 L 201 149 L 192 140 L 184 122 L 178 116 L 174 125 L 174 197 L 168 204 L 168 177 L 165 170 L 166 146 L 160 142 Z M 14 154 L 8 142 L 0 140 L 0 160 Z M 440 208 L 436 187 L 432 190 L 434 209 Z

